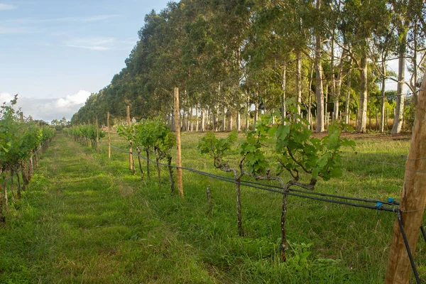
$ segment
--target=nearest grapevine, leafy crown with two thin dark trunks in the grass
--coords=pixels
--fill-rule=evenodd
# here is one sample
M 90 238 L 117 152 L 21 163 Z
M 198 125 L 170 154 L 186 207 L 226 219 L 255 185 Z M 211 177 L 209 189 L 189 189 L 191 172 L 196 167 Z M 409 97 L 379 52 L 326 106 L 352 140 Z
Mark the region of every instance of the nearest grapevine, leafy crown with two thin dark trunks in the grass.
M 241 222 L 240 184 L 243 175 L 256 180 L 275 180 L 283 190 L 281 212 L 281 259 L 285 261 L 287 234 L 285 218 L 287 214 L 288 195 L 291 186 L 314 190 L 317 180 L 329 180 L 342 176 L 342 147 L 354 148 L 354 141 L 342 138 L 343 129 L 349 126 L 336 122 L 329 127 L 327 135 L 321 138 L 313 136 L 307 128 L 307 121 L 297 114 L 297 104 L 288 101 L 288 112 L 284 119 L 280 113 L 266 114 L 247 133 L 239 146 L 236 133 L 231 132 L 226 138 L 216 138 L 208 132 L 199 143 L 201 153 L 208 153 L 214 160 L 214 166 L 225 172 L 233 172 L 237 195 L 237 226 L 239 235 L 243 235 Z M 273 123 L 277 121 L 277 123 Z M 273 147 L 272 154 L 266 155 L 266 149 Z M 239 158 L 234 167 L 229 165 L 229 154 L 234 151 Z M 290 175 L 284 176 L 284 173 Z

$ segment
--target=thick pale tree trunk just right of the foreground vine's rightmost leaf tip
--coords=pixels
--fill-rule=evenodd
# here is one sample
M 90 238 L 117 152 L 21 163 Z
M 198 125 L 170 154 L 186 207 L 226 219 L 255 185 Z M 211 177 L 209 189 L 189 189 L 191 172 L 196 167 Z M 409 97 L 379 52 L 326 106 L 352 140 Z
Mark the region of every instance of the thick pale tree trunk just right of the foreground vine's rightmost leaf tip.
M 359 109 L 356 116 L 356 131 L 366 133 L 367 122 L 367 99 L 368 99 L 368 81 L 367 81 L 367 56 L 364 54 L 361 58 L 359 72 Z

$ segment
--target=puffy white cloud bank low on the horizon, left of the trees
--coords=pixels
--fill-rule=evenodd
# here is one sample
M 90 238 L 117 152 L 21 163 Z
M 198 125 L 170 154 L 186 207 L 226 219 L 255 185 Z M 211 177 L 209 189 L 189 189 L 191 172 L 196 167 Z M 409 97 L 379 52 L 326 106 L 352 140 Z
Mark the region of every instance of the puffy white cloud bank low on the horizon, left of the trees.
M 90 96 L 90 92 L 80 90 L 76 94 L 70 94 L 62 98 L 35 99 L 18 96 L 17 107 L 21 107 L 24 116 L 32 116 L 33 119 L 52 121 L 62 119 L 68 120 L 80 109 Z M 13 96 L 6 92 L 0 92 L 0 102 L 10 102 Z

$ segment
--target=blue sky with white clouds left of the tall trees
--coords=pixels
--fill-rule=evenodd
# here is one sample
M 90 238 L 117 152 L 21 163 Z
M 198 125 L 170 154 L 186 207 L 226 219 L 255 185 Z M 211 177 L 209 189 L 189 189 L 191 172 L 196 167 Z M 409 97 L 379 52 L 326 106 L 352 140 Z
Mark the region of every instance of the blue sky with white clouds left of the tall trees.
M 0 0 L 0 103 L 71 119 L 125 67 L 151 10 L 169 0 Z

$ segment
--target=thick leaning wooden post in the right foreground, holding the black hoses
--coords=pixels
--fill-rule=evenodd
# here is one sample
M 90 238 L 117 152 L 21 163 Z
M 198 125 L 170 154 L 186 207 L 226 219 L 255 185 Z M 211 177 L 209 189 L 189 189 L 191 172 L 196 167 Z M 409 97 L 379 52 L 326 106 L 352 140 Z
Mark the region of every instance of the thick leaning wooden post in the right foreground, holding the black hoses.
M 426 204 L 426 73 L 418 95 L 413 136 L 405 163 L 405 177 L 400 201 L 403 227 L 411 253 L 415 253 Z M 412 268 L 398 220 L 393 225 L 393 239 L 386 269 L 386 284 L 408 284 Z

